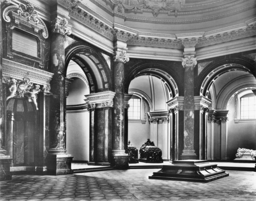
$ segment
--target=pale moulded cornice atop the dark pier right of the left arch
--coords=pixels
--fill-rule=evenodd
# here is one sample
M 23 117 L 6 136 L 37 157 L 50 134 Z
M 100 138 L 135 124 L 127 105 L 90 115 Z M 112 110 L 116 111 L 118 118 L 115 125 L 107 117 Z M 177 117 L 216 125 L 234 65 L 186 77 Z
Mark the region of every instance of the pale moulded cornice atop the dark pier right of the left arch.
M 89 108 L 113 107 L 115 92 L 107 91 L 85 95 Z

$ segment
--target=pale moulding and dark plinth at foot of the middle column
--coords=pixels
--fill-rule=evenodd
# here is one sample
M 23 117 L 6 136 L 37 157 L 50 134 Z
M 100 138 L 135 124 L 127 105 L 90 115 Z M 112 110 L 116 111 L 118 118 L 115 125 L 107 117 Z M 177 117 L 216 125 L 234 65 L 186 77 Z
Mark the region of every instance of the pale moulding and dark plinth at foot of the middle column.
M 112 150 L 113 161 L 111 166 L 118 170 L 129 169 L 129 155 L 125 153 L 125 150 Z

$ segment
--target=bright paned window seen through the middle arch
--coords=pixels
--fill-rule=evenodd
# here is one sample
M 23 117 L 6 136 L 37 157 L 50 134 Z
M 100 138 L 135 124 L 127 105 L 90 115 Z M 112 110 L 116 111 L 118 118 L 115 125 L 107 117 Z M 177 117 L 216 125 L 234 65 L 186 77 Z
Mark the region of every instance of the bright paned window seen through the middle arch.
M 133 95 L 129 100 L 128 119 L 141 119 L 141 98 Z

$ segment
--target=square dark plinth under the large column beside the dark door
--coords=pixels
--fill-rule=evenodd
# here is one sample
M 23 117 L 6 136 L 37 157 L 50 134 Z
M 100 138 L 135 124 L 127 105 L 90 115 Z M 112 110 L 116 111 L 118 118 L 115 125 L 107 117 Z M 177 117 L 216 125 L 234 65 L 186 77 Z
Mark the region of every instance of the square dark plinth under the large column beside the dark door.
M 73 157 L 68 154 L 48 154 L 46 157 L 47 174 L 68 175 L 73 174 L 71 169 Z

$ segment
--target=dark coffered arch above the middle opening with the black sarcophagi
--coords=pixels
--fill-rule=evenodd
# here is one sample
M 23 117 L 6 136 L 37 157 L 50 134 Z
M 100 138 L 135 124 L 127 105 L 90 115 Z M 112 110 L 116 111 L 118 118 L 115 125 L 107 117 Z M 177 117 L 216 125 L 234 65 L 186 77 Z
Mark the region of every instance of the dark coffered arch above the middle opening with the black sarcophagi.
M 178 81 L 178 78 L 175 74 L 170 74 L 166 71 L 165 66 L 156 64 L 156 63 L 148 63 L 148 64 L 137 64 L 132 67 L 132 71 L 126 77 L 125 80 L 125 91 L 128 91 L 129 84 L 131 81 L 142 75 L 151 75 L 159 78 L 167 87 L 169 91 L 169 95 L 171 98 L 175 96 L 179 96 L 179 90 L 182 90 L 181 84 Z M 173 78 L 174 77 L 174 78 Z

